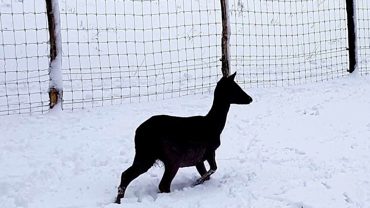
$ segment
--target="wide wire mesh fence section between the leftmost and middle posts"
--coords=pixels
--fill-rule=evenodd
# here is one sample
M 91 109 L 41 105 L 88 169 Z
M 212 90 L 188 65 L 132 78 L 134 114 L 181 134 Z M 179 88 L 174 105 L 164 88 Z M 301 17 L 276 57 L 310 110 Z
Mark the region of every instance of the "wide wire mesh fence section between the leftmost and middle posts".
M 65 1 L 61 12 L 63 64 L 68 66 L 63 65 L 67 83 L 63 107 L 209 91 L 221 73 L 218 4 Z

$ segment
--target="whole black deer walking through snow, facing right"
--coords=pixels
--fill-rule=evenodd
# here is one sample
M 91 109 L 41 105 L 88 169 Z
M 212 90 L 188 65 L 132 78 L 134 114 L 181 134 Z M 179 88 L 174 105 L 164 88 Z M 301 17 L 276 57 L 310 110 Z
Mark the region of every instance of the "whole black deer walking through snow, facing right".
M 121 203 L 128 184 L 147 172 L 157 160 L 165 171 L 159 191 L 170 192 L 171 182 L 181 167 L 195 166 L 201 178 L 194 185 L 209 180 L 216 171 L 215 151 L 225 127 L 230 104 L 249 104 L 252 98 L 234 81 L 236 73 L 218 81 L 211 110 L 206 116 L 175 117 L 156 115 L 142 123 L 135 133 L 135 158 L 131 167 L 122 172 L 117 204 Z M 204 161 L 210 170 L 206 171 Z

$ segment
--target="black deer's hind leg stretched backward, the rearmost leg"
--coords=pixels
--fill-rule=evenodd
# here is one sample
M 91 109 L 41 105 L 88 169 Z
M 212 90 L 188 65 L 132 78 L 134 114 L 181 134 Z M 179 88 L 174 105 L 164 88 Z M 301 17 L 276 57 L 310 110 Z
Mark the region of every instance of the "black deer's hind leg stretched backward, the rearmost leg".
M 122 172 L 121 184 L 118 187 L 117 204 L 121 203 L 121 198 L 124 197 L 126 188 L 131 181 L 139 177 L 139 175 L 147 172 L 149 168 L 153 166 L 154 162 L 155 159 L 153 158 L 139 157 L 137 154 L 135 155 L 135 159 L 131 167 Z

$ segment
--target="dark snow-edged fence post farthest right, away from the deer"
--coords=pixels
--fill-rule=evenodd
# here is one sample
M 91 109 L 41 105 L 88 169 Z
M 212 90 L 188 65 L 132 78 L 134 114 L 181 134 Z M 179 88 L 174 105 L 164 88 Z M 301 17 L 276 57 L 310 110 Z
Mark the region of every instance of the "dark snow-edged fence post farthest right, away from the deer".
M 356 26 L 356 1 L 346 0 L 347 26 L 348 26 L 348 54 L 349 54 L 349 73 L 357 71 L 357 26 Z

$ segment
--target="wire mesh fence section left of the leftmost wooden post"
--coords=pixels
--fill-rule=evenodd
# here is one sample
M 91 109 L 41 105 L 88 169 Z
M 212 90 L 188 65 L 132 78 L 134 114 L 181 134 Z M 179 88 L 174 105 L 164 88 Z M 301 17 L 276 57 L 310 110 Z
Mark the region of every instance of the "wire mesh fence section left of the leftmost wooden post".
M 48 110 L 44 1 L 1 1 L 0 115 Z

